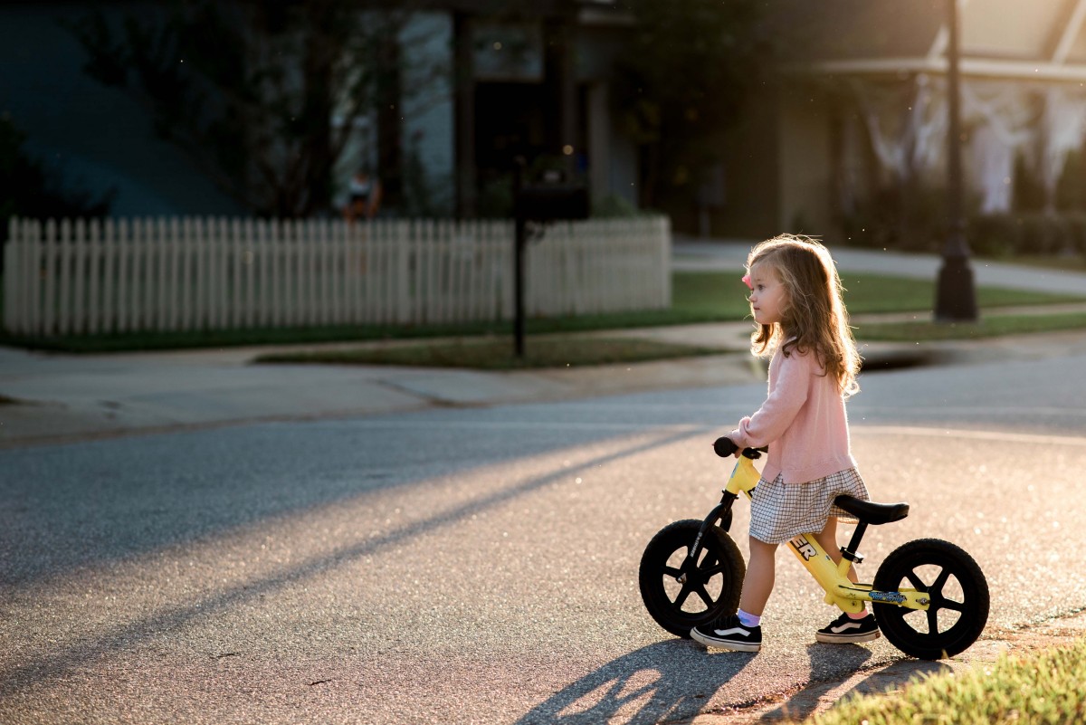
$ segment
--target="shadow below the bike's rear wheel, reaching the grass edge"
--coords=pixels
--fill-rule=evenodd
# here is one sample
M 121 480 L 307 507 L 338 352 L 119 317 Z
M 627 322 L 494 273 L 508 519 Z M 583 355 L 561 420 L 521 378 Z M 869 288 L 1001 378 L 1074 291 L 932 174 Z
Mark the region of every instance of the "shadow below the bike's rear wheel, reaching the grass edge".
M 819 710 L 819 705 L 825 699 L 832 699 L 836 705 L 854 697 L 881 695 L 886 690 L 898 689 L 918 676 L 937 674 L 947 670 L 947 666 L 939 662 L 898 660 L 866 673 L 862 679 L 849 686 L 849 681 L 855 679 L 856 675 L 849 677 L 848 672 L 855 673 L 860 670 L 871 659 L 871 650 L 860 645 L 811 644 L 807 647 L 807 653 L 810 658 L 811 676 L 815 677 L 822 673 L 823 678 L 810 682 L 779 707 L 752 720 L 752 723 L 806 721 Z M 826 673 L 833 674 L 825 676 Z

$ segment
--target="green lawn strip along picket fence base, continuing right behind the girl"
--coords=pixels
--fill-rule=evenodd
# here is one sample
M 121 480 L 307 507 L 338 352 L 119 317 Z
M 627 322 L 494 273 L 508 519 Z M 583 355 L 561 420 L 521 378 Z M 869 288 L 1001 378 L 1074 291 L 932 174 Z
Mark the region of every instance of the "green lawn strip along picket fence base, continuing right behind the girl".
M 628 329 L 717 322 L 745 319 L 748 307 L 742 272 L 675 272 L 672 276 L 672 305 L 669 309 L 586 315 L 557 319 L 530 319 L 529 335 L 590 330 Z M 874 313 L 930 313 L 935 297 L 934 281 L 885 275 L 845 274 L 846 304 L 851 315 Z M 1050 305 L 1084 302 L 1084 297 L 978 288 L 982 308 L 1019 305 Z M 307 328 L 191 331 L 163 333 L 97 334 L 51 339 L 27 339 L 0 333 L 0 344 L 70 353 L 106 353 L 137 349 L 226 347 L 238 345 L 316 344 L 409 340 L 433 336 L 509 335 L 509 322 L 428 326 L 317 326 Z M 904 333 L 902 333 L 904 334 Z M 922 338 L 926 339 L 926 338 Z

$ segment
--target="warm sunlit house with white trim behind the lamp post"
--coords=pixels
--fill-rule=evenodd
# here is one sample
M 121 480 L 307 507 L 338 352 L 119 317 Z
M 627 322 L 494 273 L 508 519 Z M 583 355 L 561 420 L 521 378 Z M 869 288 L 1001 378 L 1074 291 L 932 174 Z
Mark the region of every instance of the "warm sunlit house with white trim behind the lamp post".
M 924 193 L 929 206 L 937 203 L 947 148 L 947 0 L 772 5 L 782 73 L 750 100 L 730 142 L 728 199 L 715 228 L 839 236 L 862 229 L 849 219 L 862 220 L 872 205 L 900 205 L 908 215 L 925 212 Z M 959 7 L 971 205 L 980 214 L 1010 212 L 1025 202 L 1015 190 L 1027 187 L 1055 209 L 1068 162 L 1086 138 L 1086 2 Z M 1086 207 L 1086 199 L 1076 203 Z

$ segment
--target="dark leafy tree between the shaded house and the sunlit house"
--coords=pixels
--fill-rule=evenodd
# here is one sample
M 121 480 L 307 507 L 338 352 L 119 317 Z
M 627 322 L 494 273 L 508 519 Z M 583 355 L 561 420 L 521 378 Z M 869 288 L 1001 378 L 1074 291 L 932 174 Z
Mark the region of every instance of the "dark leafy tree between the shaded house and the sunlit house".
M 767 55 L 754 0 L 624 0 L 616 100 L 642 148 L 643 206 L 694 199 Z

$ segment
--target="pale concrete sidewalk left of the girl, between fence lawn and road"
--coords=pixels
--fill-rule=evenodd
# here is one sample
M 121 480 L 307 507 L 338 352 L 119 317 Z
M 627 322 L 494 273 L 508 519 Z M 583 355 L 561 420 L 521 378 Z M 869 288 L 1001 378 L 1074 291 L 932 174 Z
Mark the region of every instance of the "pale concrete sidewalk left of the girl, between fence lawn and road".
M 748 326 L 742 327 L 748 330 Z M 684 332 L 736 342 L 742 342 L 743 336 L 736 326 L 716 326 L 705 332 L 689 329 L 623 334 L 682 339 Z M 253 364 L 262 354 L 286 349 L 290 347 L 74 356 L 0 347 L 0 396 L 14 400 L 0 403 L 0 448 L 138 432 L 371 416 L 430 406 L 560 400 L 758 379 L 749 356 L 741 353 L 629 366 L 508 372 Z

